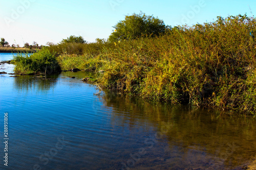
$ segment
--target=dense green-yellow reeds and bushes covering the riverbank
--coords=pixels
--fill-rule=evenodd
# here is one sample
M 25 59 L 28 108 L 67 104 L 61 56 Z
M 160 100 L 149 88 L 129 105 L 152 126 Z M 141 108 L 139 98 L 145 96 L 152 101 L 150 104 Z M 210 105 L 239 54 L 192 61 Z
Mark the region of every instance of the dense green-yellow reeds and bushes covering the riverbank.
M 61 69 L 103 69 L 97 81 L 101 88 L 155 101 L 254 114 L 255 21 L 246 15 L 218 17 L 191 27 L 165 27 L 164 33 L 154 37 L 142 33 L 129 39 L 59 43 L 30 57 L 17 57 L 15 70 L 39 71 L 51 62 Z M 39 56 L 46 54 L 53 60 L 41 62 Z

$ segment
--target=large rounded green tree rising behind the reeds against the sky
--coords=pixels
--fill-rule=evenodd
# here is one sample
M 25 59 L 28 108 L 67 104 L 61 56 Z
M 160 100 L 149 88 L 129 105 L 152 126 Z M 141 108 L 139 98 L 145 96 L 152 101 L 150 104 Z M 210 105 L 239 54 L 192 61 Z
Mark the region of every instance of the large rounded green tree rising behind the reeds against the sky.
M 135 39 L 142 36 L 159 36 L 165 32 L 167 28 L 163 20 L 153 15 L 139 14 L 126 15 L 124 20 L 121 20 L 113 27 L 115 31 L 109 36 L 109 41 L 119 41 L 124 39 Z

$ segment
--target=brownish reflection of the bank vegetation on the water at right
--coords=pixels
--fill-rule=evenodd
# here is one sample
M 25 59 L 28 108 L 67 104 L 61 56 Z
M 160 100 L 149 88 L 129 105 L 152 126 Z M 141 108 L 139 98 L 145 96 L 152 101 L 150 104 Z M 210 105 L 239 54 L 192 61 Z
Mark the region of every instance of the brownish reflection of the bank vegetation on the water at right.
M 148 154 L 135 161 L 134 168 L 147 167 L 148 163 L 157 161 L 161 168 L 241 169 L 254 159 L 256 127 L 251 117 L 149 103 L 113 93 L 100 98 L 105 106 L 113 108 L 112 125 L 129 124 L 132 129 L 137 124 L 145 124 L 157 129 L 149 136 L 153 140 L 148 142 L 153 145 L 154 139 L 162 142 L 164 149 L 148 149 Z M 144 141 L 142 148 L 147 147 Z M 128 164 L 126 162 L 126 166 Z

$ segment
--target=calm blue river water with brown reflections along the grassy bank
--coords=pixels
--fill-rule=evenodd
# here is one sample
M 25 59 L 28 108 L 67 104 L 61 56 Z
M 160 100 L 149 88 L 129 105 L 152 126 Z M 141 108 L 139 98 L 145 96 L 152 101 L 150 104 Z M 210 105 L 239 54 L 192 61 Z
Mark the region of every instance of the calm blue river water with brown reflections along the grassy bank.
M 242 169 L 255 159 L 252 118 L 99 92 L 85 76 L 0 76 L 0 169 Z

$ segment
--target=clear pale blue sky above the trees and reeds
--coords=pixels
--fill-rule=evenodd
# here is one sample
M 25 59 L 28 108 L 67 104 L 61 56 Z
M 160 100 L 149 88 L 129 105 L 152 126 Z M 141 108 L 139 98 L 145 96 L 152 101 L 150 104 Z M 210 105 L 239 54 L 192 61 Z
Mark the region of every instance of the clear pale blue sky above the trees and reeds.
M 82 36 L 88 42 L 107 39 L 125 15 L 153 15 L 165 25 L 211 22 L 217 16 L 256 16 L 255 0 L 0 0 L 0 38 L 24 46 L 58 43 Z

